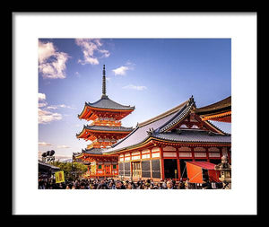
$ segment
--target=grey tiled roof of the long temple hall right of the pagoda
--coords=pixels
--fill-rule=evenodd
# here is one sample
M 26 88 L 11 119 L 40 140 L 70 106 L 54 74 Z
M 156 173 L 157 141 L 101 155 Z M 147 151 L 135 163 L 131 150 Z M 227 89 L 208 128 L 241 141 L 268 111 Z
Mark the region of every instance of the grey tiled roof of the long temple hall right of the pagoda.
M 114 153 L 124 149 L 142 144 L 152 137 L 171 142 L 197 142 L 197 143 L 230 143 L 230 135 L 214 127 L 212 123 L 206 122 L 215 129 L 215 133 L 200 129 L 186 129 L 176 132 L 168 132 L 167 129 L 177 125 L 181 120 L 187 117 L 192 109 L 195 109 L 193 97 L 183 102 L 178 107 L 170 109 L 165 113 L 138 124 L 134 131 L 125 138 L 113 144 L 111 148 L 103 150 L 103 153 Z

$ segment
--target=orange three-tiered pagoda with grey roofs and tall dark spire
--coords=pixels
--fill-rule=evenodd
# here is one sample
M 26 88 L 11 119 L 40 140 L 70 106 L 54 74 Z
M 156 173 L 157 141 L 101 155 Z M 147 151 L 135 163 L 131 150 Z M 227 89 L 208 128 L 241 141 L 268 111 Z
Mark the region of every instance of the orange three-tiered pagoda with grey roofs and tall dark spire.
M 88 165 L 88 175 L 91 177 L 117 176 L 117 156 L 103 155 L 103 151 L 116 144 L 134 128 L 122 127 L 121 119 L 134 111 L 134 107 L 124 106 L 110 100 L 106 93 L 106 69 L 103 65 L 102 95 L 100 100 L 85 102 L 79 119 L 91 121 L 84 125 L 82 131 L 76 135 L 78 139 L 91 141 L 82 153 L 74 159 Z

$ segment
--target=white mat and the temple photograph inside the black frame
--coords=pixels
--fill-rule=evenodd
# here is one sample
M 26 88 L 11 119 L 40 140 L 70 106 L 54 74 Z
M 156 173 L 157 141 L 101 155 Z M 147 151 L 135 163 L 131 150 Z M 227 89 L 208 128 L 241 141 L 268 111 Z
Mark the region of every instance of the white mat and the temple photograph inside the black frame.
M 13 13 L 13 81 L 13 214 L 256 214 L 256 13 Z

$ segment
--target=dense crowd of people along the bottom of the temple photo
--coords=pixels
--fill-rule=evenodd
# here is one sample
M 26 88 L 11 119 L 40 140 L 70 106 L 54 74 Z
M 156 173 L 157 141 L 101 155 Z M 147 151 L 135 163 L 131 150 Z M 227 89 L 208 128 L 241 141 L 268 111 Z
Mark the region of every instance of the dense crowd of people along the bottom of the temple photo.
M 216 185 L 216 188 L 221 186 Z M 201 186 L 204 189 L 212 189 L 212 183 Z M 174 179 L 164 179 L 154 182 L 152 179 L 122 180 L 122 179 L 75 179 L 56 183 L 55 179 L 39 179 L 39 189 L 194 189 L 194 184 Z

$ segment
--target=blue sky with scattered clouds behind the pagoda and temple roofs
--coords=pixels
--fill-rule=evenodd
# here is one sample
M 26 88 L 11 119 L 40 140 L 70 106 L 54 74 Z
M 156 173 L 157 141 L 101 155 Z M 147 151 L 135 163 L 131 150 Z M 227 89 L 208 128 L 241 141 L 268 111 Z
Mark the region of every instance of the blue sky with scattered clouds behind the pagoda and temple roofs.
M 230 39 L 39 39 L 39 153 L 71 158 L 88 143 L 78 140 L 87 121 L 84 102 L 107 95 L 135 106 L 122 120 L 135 127 L 194 95 L 196 106 L 231 94 Z M 213 122 L 230 133 L 230 124 Z

